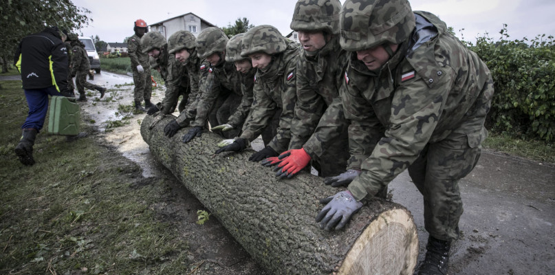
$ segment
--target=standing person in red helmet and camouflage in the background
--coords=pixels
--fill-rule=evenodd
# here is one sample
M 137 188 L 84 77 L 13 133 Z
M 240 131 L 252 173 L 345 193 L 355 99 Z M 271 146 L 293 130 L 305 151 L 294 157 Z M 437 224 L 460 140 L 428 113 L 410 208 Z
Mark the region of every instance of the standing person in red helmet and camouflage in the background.
M 151 102 L 152 85 L 151 71 L 149 69 L 149 55 L 142 51 L 141 38 L 149 31 L 146 22 L 137 19 L 133 24 L 135 34 L 127 39 L 127 53 L 131 60 L 131 70 L 133 71 L 133 100 L 135 101 L 135 109 L 145 111 L 154 106 Z M 141 102 L 144 100 L 144 108 Z

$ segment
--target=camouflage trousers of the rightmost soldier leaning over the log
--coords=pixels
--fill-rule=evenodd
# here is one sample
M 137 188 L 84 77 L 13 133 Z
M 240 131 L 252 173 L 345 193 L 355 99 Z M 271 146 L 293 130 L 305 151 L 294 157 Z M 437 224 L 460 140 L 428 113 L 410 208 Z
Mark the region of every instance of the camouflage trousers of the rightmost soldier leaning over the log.
M 473 133 L 451 133 L 424 147 L 409 166 L 409 175 L 424 196 L 424 227 L 436 239 L 451 241 L 459 236 L 463 213 L 459 179 L 472 171 L 481 152 L 479 142 L 473 140 L 477 140 Z

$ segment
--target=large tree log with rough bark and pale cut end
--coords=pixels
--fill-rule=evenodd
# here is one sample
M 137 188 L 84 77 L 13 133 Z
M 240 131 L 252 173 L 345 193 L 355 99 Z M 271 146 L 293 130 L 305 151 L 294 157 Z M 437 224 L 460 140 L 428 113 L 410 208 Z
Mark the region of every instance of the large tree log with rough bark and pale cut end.
M 301 173 L 277 180 L 272 169 L 249 162 L 254 152 L 215 155 L 219 135 L 206 132 L 184 144 L 180 130 L 164 136 L 171 118 L 141 134 L 151 153 L 210 210 L 260 265 L 274 274 L 413 274 L 418 238 L 403 206 L 375 199 L 345 230 L 321 230 L 318 199 L 338 188 Z

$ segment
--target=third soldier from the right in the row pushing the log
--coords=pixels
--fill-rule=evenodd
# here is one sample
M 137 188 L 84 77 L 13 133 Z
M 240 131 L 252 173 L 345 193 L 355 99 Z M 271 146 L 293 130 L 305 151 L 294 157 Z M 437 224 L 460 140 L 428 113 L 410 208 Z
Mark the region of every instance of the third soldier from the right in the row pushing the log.
M 232 144 L 219 148 L 224 151 L 241 151 L 258 137 L 277 111 L 279 126 L 272 141 L 249 160 L 259 162 L 276 157 L 287 150 L 291 139 L 290 126 L 296 102 L 296 64 L 300 49 L 298 44 L 287 41 L 279 30 L 271 25 L 259 25 L 250 29 L 241 41 L 241 56 L 248 56 L 254 76 L 254 101 L 243 133 Z

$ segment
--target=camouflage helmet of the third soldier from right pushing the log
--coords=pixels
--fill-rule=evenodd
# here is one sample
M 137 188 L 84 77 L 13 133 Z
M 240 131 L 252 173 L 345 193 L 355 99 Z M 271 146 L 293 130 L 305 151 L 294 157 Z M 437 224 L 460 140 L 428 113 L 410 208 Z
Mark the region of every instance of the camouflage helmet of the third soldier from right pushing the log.
M 285 37 L 279 30 L 271 25 L 256 26 L 243 36 L 241 45 L 241 56 L 247 57 L 249 54 L 264 52 L 265 54 L 279 54 L 285 51 L 287 43 Z

